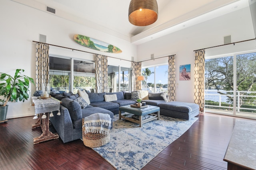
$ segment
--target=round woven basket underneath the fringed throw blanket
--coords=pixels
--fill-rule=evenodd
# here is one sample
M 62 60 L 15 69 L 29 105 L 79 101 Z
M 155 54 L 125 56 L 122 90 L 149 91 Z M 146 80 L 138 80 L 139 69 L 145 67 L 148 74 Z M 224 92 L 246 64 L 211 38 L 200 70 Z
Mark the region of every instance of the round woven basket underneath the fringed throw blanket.
M 106 145 L 110 141 L 110 135 L 103 133 L 85 133 L 84 119 L 82 121 L 83 142 L 86 147 L 96 148 Z

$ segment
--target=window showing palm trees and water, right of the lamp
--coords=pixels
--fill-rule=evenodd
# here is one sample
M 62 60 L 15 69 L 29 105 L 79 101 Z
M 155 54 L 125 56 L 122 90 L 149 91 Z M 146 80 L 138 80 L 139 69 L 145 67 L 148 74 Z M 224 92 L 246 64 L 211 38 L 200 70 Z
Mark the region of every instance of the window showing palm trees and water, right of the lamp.
M 168 65 L 160 65 L 142 68 L 142 90 L 149 92 L 167 92 L 168 91 Z

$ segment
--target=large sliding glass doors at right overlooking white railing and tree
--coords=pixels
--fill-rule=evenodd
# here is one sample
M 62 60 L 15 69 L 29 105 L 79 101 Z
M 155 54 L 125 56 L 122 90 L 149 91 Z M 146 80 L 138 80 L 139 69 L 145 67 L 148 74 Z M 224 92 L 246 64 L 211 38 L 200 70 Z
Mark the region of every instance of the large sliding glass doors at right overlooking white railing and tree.
M 256 118 L 256 53 L 205 60 L 206 111 Z

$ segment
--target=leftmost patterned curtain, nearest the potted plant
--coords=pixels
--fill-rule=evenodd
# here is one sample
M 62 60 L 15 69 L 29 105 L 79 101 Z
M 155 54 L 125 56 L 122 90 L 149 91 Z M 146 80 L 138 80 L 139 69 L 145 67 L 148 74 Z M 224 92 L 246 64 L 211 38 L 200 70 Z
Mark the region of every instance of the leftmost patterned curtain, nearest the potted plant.
M 36 43 L 36 90 L 49 83 L 49 45 Z

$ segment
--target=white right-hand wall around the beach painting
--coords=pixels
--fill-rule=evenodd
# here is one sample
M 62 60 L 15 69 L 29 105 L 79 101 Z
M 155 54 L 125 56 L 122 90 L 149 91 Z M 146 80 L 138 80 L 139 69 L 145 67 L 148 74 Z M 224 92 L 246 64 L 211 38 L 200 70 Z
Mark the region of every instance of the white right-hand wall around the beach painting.
M 138 60 L 150 59 L 151 54 L 154 58 L 176 54 L 176 101 L 194 102 L 194 50 L 222 45 L 227 35 L 231 35 L 231 42 L 255 37 L 249 7 L 138 45 Z M 256 41 L 233 46 L 208 49 L 206 55 L 256 49 Z M 152 66 L 161 61 L 166 63 L 163 58 L 144 62 L 142 66 Z M 179 80 L 179 66 L 184 64 L 191 64 L 191 80 Z

